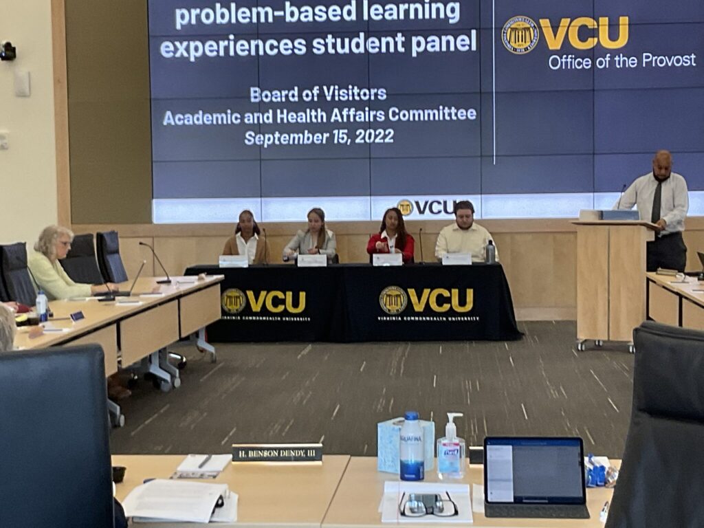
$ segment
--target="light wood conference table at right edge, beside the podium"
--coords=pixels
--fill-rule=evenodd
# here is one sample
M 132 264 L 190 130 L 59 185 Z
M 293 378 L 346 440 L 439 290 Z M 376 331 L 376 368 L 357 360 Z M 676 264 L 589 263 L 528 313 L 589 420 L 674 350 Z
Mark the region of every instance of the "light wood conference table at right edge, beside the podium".
M 646 286 L 648 319 L 704 330 L 704 284 L 695 277 L 681 279 L 647 272 Z

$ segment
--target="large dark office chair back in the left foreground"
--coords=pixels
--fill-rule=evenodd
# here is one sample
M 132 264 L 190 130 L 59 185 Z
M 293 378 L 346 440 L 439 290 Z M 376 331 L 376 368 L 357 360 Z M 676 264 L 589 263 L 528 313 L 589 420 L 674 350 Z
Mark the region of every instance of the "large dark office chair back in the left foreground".
M 3 527 L 113 527 L 103 350 L 0 354 Z

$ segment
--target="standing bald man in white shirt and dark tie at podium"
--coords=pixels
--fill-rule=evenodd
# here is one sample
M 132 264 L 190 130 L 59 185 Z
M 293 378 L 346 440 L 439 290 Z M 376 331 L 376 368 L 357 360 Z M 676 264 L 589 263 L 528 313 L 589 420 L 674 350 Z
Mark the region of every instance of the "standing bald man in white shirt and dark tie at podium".
M 658 151 L 653 172 L 636 179 L 614 204 L 614 209 L 638 208 L 641 220 L 658 226 L 655 240 L 648 242 L 647 271 L 658 268 L 684 271 L 687 248 L 682 239 L 684 218 L 689 209 L 687 182 L 672 172 L 672 155 Z

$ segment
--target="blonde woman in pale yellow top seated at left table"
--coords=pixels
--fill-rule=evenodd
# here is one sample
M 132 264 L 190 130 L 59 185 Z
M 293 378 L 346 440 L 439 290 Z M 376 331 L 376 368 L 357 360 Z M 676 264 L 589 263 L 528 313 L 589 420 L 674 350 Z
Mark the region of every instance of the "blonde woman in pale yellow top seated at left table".
M 89 297 L 95 294 L 117 291 L 112 282 L 106 284 L 83 284 L 73 282 L 66 275 L 59 260 L 66 258 L 73 242 L 73 232 L 65 227 L 50 225 L 39 234 L 34 251 L 28 251 L 27 267 L 30 268 L 37 288 L 44 290 L 49 301 L 70 297 Z M 106 288 L 107 286 L 107 288 Z

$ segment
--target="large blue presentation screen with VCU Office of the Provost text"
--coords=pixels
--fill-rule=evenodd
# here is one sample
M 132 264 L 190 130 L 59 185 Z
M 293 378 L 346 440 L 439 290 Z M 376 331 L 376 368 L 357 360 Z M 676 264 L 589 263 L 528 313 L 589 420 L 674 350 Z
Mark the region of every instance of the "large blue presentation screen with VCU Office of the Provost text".
M 704 2 L 150 0 L 154 222 L 704 214 Z

